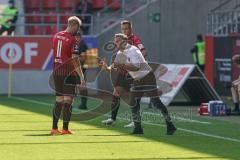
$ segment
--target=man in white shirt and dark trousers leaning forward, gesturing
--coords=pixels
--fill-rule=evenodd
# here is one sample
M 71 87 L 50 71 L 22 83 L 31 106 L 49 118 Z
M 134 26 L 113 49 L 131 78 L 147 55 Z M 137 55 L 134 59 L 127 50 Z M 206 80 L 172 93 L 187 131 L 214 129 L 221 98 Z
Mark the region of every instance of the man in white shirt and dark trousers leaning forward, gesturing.
M 126 70 L 133 78 L 133 84 L 130 89 L 130 106 L 133 107 L 134 130 L 132 134 L 143 134 L 140 116 L 141 97 L 150 96 L 154 106 L 161 110 L 167 125 L 167 135 L 172 135 L 176 128 L 173 125 L 166 106 L 161 102 L 158 94 L 156 78 L 151 67 L 144 59 L 141 51 L 127 43 L 127 36 L 124 34 L 115 34 L 114 43 L 119 49 L 113 65 L 109 68 L 106 63 L 103 67 L 106 69 L 116 68 L 118 71 Z

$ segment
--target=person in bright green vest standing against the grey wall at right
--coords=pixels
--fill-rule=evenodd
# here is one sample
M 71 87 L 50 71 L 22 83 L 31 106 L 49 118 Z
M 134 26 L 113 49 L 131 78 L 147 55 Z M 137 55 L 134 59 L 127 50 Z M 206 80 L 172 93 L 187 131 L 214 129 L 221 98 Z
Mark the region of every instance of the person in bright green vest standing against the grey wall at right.
M 204 73 L 205 69 L 205 42 L 203 41 L 203 37 L 201 34 L 197 35 L 197 41 L 191 49 L 191 53 L 193 56 L 193 61 L 198 65 L 198 67 Z

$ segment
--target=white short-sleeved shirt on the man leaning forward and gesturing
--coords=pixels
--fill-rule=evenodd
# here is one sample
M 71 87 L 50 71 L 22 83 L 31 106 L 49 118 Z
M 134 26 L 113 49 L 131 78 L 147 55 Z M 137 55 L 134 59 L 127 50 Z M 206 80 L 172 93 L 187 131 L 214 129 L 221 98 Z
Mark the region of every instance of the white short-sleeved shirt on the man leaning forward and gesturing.
M 143 57 L 141 51 L 130 44 L 127 44 L 126 49 L 123 52 L 117 52 L 114 62 L 120 64 L 132 64 L 140 68 L 138 71 L 128 71 L 133 79 L 141 79 L 152 70 Z

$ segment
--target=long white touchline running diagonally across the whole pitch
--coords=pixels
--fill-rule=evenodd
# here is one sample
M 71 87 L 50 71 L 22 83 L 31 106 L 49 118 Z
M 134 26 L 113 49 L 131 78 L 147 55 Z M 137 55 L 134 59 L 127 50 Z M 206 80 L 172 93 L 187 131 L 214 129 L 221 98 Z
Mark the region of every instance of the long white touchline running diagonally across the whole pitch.
M 27 99 L 27 98 L 20 98 L 20 97 L 11 97 L 11 98 L 16 99 L 16 100 L 20 100 L 20 101 L 41 104 L 41 105 L 45 105 L 45 106 L 51 105 L 50 103 L 40 102 L 40 101 L 31 100 L 31 99 Z M 128 119 L 120 118 L 120 117 L 118 119 L 128 120 Z M 148 124 L 148 125 L 153 125 L 153 126 L 165 127 L 165 125 L 162 125 L 162 124 L 154 124 L 154 123 L 146 122 L 146 121 L 144 121 L 143 123 Z M 177 128 L 177 129 L 180 130 L 180 131 L 193 133 L 193 134 L 197 134 L 197 135 L 201 135 L 201 136 L 212 137 L 212 138 L 216 138 L 216 139 L 222 139 L 222 140 L 226 140 L 226 141 L 232 141 L 232 142 L 240 143 L 240 140 L 235 139 L 235 138 L 223 137 L 223 136 L 218 136 L 218 135 L 214 135 L 214 134 L 208 134 L 208 133 L 204 133 L 204 132 L 198 132 L 198 131 L 194 131 L 194 130 L 184 129 L 184 128 Z

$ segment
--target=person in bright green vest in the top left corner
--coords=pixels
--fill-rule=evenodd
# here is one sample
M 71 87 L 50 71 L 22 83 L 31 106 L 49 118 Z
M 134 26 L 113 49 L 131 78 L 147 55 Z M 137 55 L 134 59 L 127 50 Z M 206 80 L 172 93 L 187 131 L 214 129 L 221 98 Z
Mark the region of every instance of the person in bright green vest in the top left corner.
M 11 35 L 15 30 L 16 21 L 18 17 L 18 11 L 15 7 L 14 0 L 8 1 L 9 6 L 3 10 L 3 18 L 0 20 L 0 35 L 7 31 L 7 35 Z

